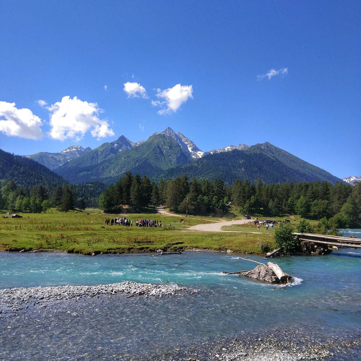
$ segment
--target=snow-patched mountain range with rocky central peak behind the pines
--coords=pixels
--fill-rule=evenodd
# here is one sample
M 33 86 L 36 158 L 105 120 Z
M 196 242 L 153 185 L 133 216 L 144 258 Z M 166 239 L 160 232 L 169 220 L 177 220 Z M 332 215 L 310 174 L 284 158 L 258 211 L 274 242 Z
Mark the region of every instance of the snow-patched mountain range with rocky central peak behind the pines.
M 131 142 L 124 135 L 95 149 L 73 146 L 60 153 L 27 156 L 38 160 L 71 183 L 116 182 L 125 172 L 139 173 L 158 181 L 186 173 L 188 177 L 221 178 L 227 184 L 236 178 L 265 183 L 289 181 L 342 182 L 329 172 L 266 142 L 230 145 L 203 152 L 180 132 L 166 128 L 145 142 Z M 61 164 L 60 166 L 58 166 Z

